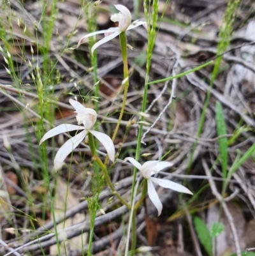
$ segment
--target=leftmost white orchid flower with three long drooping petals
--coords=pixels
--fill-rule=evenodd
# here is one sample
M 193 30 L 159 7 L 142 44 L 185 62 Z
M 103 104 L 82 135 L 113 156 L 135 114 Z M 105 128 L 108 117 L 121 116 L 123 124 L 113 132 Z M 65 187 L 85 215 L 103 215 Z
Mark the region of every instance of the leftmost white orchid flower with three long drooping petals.
M 92 127 L 96 123 L 96 111 L 94 109 L 88 109 L 85 108 L 81 103 L 77 102 L 76 100 L 69 100 L 69 103 L 75 108 L 75 112 L 77 113 L 77 122 L 79 125 L 74 124 L 61 124 L 52 130 L 45 133 L 45 135 L 40 140 L 40 145 L 45 140 L 54 137 L 55 135 L 58 135 L 63 132 L 71 132 L 75 130 L 83 130 L 82 132 L 78 133 L 71 139 L 69 139 L 67 142 L 65 142 L 59 151 L 57 151 L 57 154 L 55 155 L 54 159 L 54 168 L 55 170 L 61 169 L 64 160 L 66 159 L 66 156 L 68 156 L 75 147 L 84 140 L 87 133 L 92 133 L 96 139 L 103 144 L 103 146 L 106 149 L 106 152 L 108 153 L 108 156 L 112 162 L 114 162 L 114 156 L 115 156 L 115 149 L 112 142 L 112 139 L 105 133 L 97 132 L 92 130 Z M 80 126 L 80 124 L 84 124 L 84 126 Z

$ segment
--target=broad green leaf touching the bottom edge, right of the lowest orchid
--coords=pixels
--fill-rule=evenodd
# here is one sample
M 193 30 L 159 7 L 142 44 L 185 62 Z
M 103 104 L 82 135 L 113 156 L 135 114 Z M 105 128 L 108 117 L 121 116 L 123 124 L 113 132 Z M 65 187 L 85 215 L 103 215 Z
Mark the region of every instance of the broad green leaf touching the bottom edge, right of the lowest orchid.
M 207 225 L 203 220 L 201 220 L 201 218 L 194 217 L 194 226 L 201 244 L 207 251 L 208 255 L 212 256 L 212 237 L 210 236 L 210 231 L 208 230 Z

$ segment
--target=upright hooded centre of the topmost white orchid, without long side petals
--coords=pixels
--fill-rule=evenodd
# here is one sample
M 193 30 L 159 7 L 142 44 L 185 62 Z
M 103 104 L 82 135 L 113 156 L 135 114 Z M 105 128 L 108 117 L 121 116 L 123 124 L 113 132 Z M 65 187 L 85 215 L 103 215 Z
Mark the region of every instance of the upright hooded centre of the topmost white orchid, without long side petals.
M 131 12 L 122 4 L 115 4 L 114 6 L 117 10 L 120 11 L 120 13 L 113 14 L 111 20 L 113 22 L 119 22 L 119 30 L 124 32 L 131 24 Z

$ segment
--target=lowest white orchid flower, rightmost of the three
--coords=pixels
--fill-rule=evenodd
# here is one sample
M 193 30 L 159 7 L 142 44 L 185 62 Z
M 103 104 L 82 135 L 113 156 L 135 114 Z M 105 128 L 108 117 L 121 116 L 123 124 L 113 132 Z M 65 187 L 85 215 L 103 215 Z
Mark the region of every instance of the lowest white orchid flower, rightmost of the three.
M 182 186 L 179 183 L 169 181 L 168 179 L 158 179 L 156 177 L 152 177 L 152 175 L 157 174 L 161 170 L 173 166 L 173 163 L 166 161 L 147 161 L 143 163 L 143 165 L 141 165 L 132 157 L 127 157 L 124 161 L 127 160 L 135 165 L 135 167 L 140 170 L 142 176 L 147 180 L 148 195 L 154 206 L 157 208 L 157 211 L 159 213 L 158 216 L 161 215 L 163 206 L 161 201 L 159 200 L 159 196 L 157 195 L 153 183 L 157 183 L 163 188 L 170 188 L 171 190 L 175 190 L 177 192 L 193 195 L 190 190 L 188 190 L 185 186 Z

